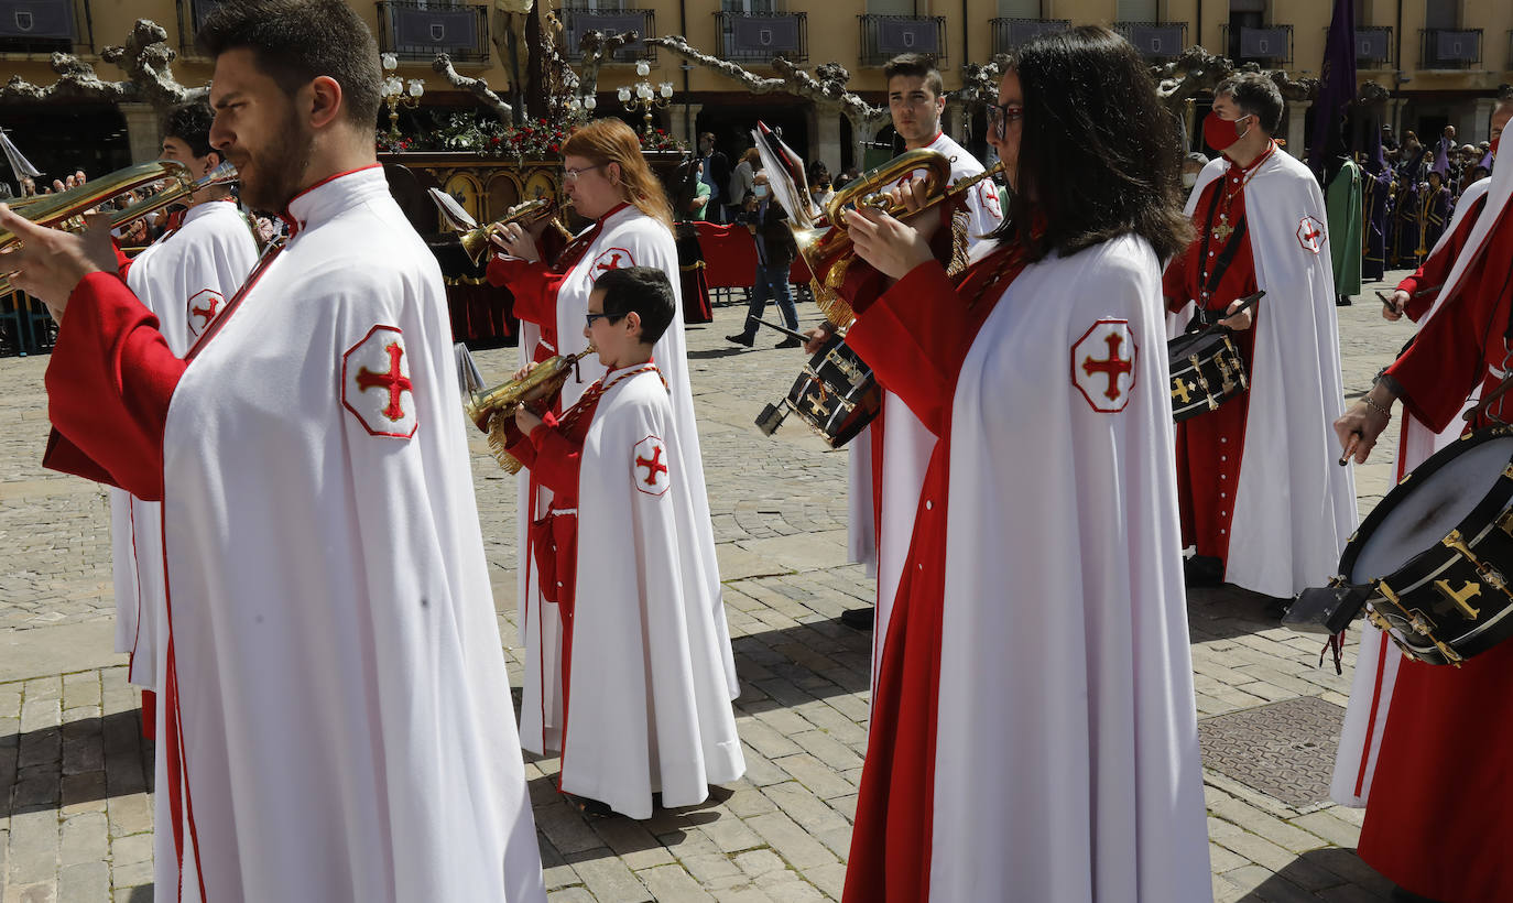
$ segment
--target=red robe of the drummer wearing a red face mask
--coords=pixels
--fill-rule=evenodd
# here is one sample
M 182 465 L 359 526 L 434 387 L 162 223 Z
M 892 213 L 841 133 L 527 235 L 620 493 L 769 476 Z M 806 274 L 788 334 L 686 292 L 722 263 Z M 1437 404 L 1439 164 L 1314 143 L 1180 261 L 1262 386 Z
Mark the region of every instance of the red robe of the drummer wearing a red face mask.
M 1198 237 L 1167 266 L 1162 290 L 1171 310 L 1182 310 L 1194 301 L 1203 310 L 1224 310 L 1232 303 L 1256 292 L 1256 257 L 1250 236 L 1239 231 L 1245 222 L 1244 180 L 1265 156 L 1251 163 L 1250 169 L 1235 169 L 1215 178 L 1203 191 L 1198 206 L 1192 210 L 1192 224 Z M 1224 191 L 1232 192 L 1227 207 L 1229 224 L 1236 231 L 1219 240 L 1213 236 L 1213 216 Z M 1209 233 L 1204 236 L 1204 233 Z M 1204 242 L 1207 237 L 1207 242 Z M 1204 290 L 1209 265 L 1224 253 L 1230 242 L 1239 242 L 1235 257 L 1224 269 L 1212 292 Z M 1253 310 L 1265 316 L 1263 304 Z M 1254 372 L 1251 354 L 1256 346 L 1256 330 L 1235 333 L 1235 348 L 1245 362 L 1245 372 Z M 1245 449 L 1245 417 L 1250 411 L 1250 393 L 1241 393 L 1216 410 L 1177 424 L 1177 502 L 1182 508 L 1182 541 L 1197 546 L 1198 555 L 1226 561 L 1229 558 L 1230 522 L 1235 519 L 1235 490 L 1239 486 L 1241 457 Z

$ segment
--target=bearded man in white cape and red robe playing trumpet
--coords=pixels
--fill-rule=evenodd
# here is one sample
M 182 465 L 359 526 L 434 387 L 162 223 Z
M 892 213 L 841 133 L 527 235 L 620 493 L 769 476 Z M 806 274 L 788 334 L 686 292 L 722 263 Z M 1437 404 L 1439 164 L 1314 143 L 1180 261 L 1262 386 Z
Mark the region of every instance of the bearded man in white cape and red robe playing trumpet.
M 163 502 L 156 886 L 543 900 L 442 277 L 374 159 L 377 45 L 339 0 L 227 0 L 198 44 L 210 142 L 290 237 L 185 358 L 104 231 L 0 210 L 0 271 L 61 324 L 45 463 Z

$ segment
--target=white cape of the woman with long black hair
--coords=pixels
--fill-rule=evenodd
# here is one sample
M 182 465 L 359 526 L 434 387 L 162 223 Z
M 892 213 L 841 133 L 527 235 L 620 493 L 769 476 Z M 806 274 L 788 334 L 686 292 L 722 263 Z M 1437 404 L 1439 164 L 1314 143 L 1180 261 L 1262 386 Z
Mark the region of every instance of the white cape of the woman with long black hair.
M 1115 239 L 1026 268 L 962 365 L 932 900 L 1210 898 L 1162 312 Z M 1103 324 L 1138 348 L 1117 413 L 1067 378 Z

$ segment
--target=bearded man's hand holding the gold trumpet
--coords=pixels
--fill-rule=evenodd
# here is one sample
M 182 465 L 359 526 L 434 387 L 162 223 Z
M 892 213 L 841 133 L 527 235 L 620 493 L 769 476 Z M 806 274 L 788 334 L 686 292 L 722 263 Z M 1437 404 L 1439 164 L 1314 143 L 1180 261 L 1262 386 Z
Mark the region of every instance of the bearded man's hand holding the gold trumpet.
M 41 298 L 64 322 L 68 296 L 91 272 L 113 272 L 115 251 L 110 248 L 110 222 L 106 216 L 91 216 L 89 230 L 79 236 L 45 228 L 0 204 L 0 230 L 17 236 L 17 244 L 0 251 L 0 272 L 11 272 L 11 284 Z

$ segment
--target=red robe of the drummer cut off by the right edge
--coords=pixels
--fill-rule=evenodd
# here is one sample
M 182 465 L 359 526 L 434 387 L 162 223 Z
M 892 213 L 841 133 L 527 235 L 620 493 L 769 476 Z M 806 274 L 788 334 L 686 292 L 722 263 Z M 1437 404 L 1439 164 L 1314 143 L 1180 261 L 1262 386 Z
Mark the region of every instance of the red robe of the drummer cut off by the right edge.
M 1387 368 L 1404 407 L 1436 431 L 1475 389 L 1499 381 L 1490 368 L 1501 371 L 1508 355 L 1510 259 L 1513 213 L 1504 207 L 1480 260 L 1448 299 L 1452 307 L 1430 318 Z M 1510 697 L 1513 643 L 1459 669 L 1403 663 L 1366 802 L 1362 859 L 1404 889 L 1445 903 L 1513 898 L 1513 779 L 1504 762 L 1513 720 L 1502 715 Z

